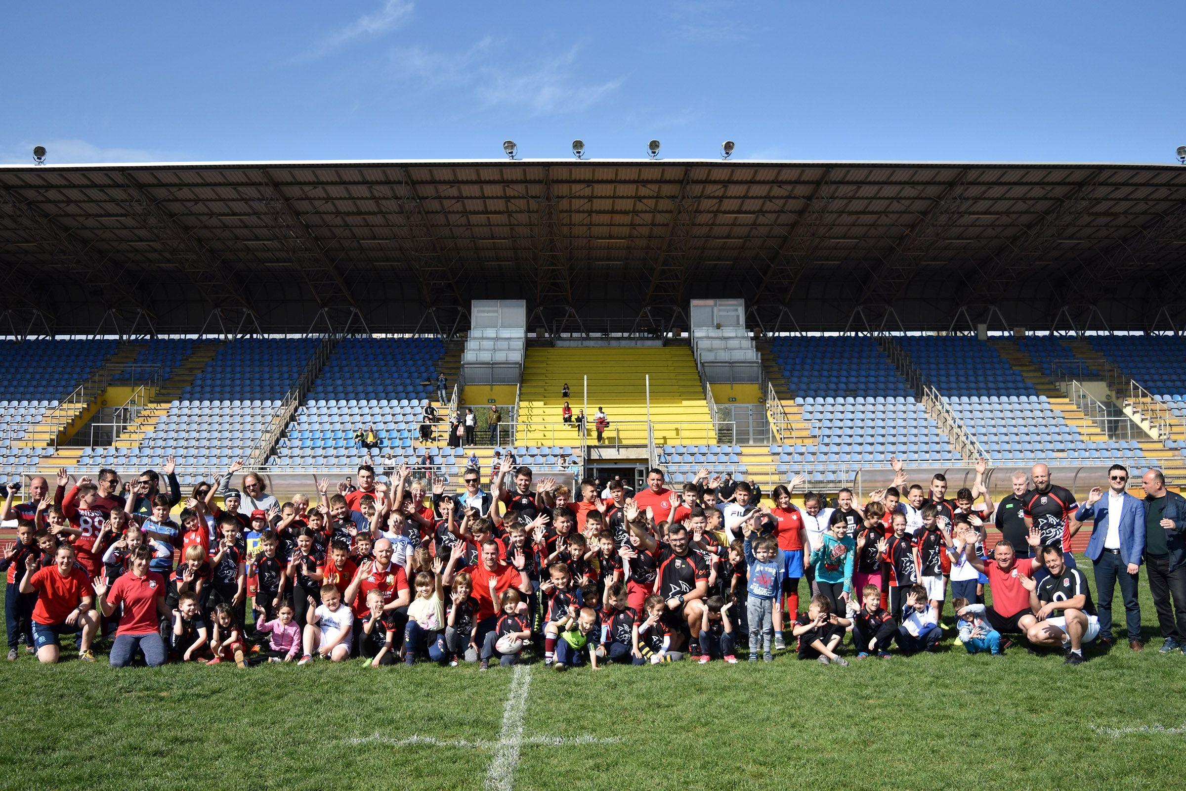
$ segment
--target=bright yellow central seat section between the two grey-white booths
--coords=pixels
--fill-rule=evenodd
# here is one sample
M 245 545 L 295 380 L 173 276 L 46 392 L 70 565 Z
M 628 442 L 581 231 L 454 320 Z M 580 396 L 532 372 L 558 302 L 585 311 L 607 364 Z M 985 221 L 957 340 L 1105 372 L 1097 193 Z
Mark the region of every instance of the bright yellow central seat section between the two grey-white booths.
M 585 407 L 588 377 L 588 442 L 597 442 L 594 415 L 605 409 L 606 439 L 646 444 L 646 375 L 651 377 L 650 416 L 658 445 L 713 445 L 712 415 L 687 346 L 528 349 L 519 390 L 516 445 L 574 445 L 576 429 L 561 426 L 565 397 L 575 417 Z

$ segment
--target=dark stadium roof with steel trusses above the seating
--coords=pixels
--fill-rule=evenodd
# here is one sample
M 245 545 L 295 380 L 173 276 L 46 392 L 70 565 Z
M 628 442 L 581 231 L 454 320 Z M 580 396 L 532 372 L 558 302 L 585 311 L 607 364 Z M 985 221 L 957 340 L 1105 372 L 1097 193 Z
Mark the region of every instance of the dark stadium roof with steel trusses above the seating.
M 1184 259 L 1177 165 L 0 166 L 2 307 L 58 332 L 132 315 L 193 332 L 216 307 L 266 331 L 307 330 L 323 308 L 408 331 L 427 306 L 457 315 L 474 298 L 612 327 L 703 296 L 742 296 L 767 321 L 785 307 L 802 328 L 852 326 L 856 306 L 946 328 L 961 306 L 993 306 L 1031 328 L 1069 307 L 1139 330 L 1161 306 L 1178 320 Z

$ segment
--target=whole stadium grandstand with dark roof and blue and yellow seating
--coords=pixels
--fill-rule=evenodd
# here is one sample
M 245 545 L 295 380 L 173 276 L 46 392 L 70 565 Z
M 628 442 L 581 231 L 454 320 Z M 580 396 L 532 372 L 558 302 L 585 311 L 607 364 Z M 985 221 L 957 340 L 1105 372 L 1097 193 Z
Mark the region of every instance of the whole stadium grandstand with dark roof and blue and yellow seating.
M 1180 481 L 1184 196 L 1160 165 L 4 166 L 0 470 Z

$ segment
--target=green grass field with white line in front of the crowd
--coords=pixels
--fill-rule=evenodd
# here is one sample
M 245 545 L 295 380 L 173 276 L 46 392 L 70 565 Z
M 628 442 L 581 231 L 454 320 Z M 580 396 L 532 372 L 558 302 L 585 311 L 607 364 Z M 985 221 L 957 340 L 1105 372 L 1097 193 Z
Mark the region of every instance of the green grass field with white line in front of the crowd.
M 950 637 L 937 655 L 848 668 L 782 656 L 598 674 L 361 661 L 113 671 L 106 657 L 21 655 L 0 676 L 0 786 L 1175 787 L 1186 656 L 1158 653 L 1141 585 L 1150 645 L 1089 651 L 1078 668 L 1021 648 L 970 657 Z M 503 739 L 516 672 L 517 765 Z M 489 777 L 492 761 L 514 772 Z

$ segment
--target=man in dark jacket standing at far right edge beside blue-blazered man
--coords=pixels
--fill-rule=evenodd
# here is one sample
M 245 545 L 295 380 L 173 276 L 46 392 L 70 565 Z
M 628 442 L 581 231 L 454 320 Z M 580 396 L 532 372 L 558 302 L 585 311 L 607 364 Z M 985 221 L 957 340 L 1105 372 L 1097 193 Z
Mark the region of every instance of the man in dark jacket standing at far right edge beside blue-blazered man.
M 1165 640 L 1159 651 L 1186 655 L 1186 499 L 1166 489 L 1160 470 L 1141 478 L 1144 487 L 1144 568 Z

